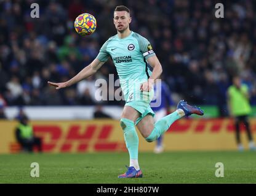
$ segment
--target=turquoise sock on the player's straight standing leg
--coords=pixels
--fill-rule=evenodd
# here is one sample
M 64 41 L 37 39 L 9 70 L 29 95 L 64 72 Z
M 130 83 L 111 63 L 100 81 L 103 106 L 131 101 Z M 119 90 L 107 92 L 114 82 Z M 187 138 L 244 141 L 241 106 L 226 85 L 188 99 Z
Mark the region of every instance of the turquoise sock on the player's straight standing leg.
M 138 159 L 138 135 L 134 122 L 127 118 L 121 118 L 120 124 L 124 131 L 124 141 L 126 141 L 130 159 Z

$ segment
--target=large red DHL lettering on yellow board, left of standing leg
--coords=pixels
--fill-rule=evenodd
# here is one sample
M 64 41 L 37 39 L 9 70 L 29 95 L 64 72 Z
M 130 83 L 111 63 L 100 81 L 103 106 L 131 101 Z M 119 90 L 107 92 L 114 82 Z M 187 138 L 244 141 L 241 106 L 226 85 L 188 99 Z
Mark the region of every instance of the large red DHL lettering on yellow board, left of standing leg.
M 46 152 L 87 152 L 87 151 L 126 151 L 124 140 L 110 141 L 113 126 L 71 125 L 67 132 L 60 126 L 34 125 L 36 135 L 42 137 L 43 149 Z

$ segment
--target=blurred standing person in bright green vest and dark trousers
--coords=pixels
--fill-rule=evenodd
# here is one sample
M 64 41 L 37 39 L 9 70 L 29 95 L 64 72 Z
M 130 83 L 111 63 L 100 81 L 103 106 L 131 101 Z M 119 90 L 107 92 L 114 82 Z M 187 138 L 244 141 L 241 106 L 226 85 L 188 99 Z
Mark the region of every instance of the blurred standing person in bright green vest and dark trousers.
M 247 86 L 241 83 L 241 78 L 238 76 L 233 78 L 233 85 L 228 88 L 228 107 L 230 115 L 234 117 L 234 126 L 236 127 L 236 142 L 238 144 L 239 151 L 244 149 L 240 138 L 241 123 L 243 123 L 246 127 L 249 148 L 256 150 L 248 120 L 248 116 L 251 112 L 249 91 Z

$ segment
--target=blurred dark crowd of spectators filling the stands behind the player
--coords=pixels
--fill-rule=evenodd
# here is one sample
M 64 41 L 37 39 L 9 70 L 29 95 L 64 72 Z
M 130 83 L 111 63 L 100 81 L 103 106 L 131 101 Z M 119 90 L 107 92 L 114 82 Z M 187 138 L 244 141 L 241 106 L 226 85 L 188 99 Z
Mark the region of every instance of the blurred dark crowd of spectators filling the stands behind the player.
M 39 4 L 39 18 L 30 17 L 33 2 Z M 130 29 L 150 40 L 164 70 L 162 78 L 176 99 L 217 105 L 225 116 L 226 89 L 233 75 L 241 75 L 256 105 L 256 1 L 223 1 L 225 18 L 215 18 L 218 2 L 0 1 L 0 102 L 97 104 L 95 80 L 108 80 L 109 74 L 118 78 L 111 60 L 94 77 L 61 91 L 47 81 L 66 81 L 94 60 L 103 43 L 116 34 L 113 10 L 123 4 L 131 11 Z M 97 29 L 82 37 L 73 24 L 85 12 L 95 16 Z

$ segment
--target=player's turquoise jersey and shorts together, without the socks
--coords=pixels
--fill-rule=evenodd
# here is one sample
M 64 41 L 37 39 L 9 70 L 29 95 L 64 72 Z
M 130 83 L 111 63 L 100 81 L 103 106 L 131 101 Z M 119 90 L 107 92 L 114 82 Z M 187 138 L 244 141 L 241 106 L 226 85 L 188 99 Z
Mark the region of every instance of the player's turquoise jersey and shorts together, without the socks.
M 110 37 L 97 56 L 97 59 L 102 62 L 107 61 L 111 56 L 118 72 L 126 106 L 135 108 L 141 114 L 135 124 L 148 114 L 154 116 L 150 107 L 154 89 L 152 88 L 150 92 L 140 91 L 140 85 L 152 74 L 146 59 L 154 55 L 150 42 L 136 32 L 131 32 L 123 39 L 118 35 Z

